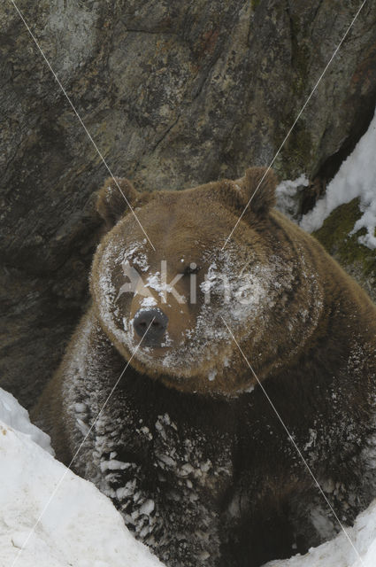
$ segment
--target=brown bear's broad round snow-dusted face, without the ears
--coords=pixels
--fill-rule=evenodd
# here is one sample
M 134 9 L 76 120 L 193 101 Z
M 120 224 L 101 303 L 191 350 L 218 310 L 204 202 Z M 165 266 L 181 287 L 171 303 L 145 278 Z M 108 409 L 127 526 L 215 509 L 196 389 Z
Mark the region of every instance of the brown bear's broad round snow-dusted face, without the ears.
M 225 190 L 231 198 L 241 192 L 236 183 Z M 247 368 L 234 378 L 240 353 L 226 325 L 251 346 L 260 371 L 261 353 L 277 352 L 271 329 L 295 278 L 278 243 L 265 238 L 265 214 L 251 212 L 223 247 L 238 218 L 228 193 L 211 183 L 141 194 L 136 214 L 155 250 L 126 213 L 114 219 L 93 263 L 96 314 L 114 346 L 134 368 L 183 390 L 231 393 L 252 385 Z M 163 329 L 157 340 L 150 331 L 142 339 L 153 316 Z

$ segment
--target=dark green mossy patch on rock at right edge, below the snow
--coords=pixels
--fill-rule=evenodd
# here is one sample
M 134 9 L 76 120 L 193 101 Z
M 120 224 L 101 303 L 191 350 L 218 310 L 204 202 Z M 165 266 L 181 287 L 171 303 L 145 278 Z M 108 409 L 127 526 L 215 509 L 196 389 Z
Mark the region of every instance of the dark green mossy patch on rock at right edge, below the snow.
M 361 216 L 359 199 L 355 198 L 345 205 L 337 207 L 324 222 L 321 229 L 313 236 L 332 254 L 344 268 L 353 267 L 358 272 L 357 279 L 376 278 L 376 253 L 358 242 L 358 237 L 365 234 L 361 229 L 349 236 L 354 224 Z

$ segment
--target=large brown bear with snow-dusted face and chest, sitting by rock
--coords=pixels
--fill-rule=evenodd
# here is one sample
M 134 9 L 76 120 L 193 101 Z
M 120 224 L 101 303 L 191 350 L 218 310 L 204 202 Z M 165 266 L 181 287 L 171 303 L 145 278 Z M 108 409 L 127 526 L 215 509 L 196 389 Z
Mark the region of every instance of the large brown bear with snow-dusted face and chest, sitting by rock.
M 134 214 L 105 183 L 92 305 L 34 412 L 168 567 L 303 553 L 376 495 L 376 307 L 265 173 L 119 179 Z

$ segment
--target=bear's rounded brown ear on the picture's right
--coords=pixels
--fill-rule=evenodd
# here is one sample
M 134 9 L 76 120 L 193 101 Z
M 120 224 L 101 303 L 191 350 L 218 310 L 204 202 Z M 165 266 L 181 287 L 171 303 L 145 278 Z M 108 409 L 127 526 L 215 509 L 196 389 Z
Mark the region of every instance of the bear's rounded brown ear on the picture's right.
M 249 203 L 248 208 L 250 211 L 265 215 L 275 205 L 277 178 L 272 169 L 267 167 L 249 167 L 244 177 L 235 183 L 240 185 L 245 201 L 244 205 Z

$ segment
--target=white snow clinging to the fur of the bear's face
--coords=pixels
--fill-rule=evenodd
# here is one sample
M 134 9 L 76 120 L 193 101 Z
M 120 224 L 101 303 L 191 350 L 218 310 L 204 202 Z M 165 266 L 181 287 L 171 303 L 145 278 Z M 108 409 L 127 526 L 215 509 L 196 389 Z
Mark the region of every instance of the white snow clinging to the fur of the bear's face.
M 124 271 L 124 263 L 129 261 L 140 265 L 139 258 L 142 257 L 142 266 L 148 266 L 150 260 L 147 247 L 140 243 L 134 243 L 127 247 L 124 252 L 124 244 L 111 242 L 111 246 L 104 248 L 101 259 L 100 285 L 98 286 L 99 315 L 107 328 L 119 342 L 126 345 L 130 351 L 134 351 L 138 345 L 139 338 L 134 334 L 133 320 L 120 314 L 116 299 L 121 295 L 121 289 L 128 285 L 125 283 L 120 291 L 113 283 L 114 266 L 121 265 Z M 288 266 L 277 257 L 271 257 L 265 265 L 253 262 L 248 256 L 249 265 L 244 265 L 244 259 L 239 259 L 238 250 L 230 245 L 225 251 L 220 248 L 206 251 L 203 261 L 210 265 L 205 282 L 201 285 L 201 292 L 212 298 L 225 299 L 222 307 L 213 309 L 211 305 L 203 302 L 196 318 L 196 327 L 185 331 L 180 343 L 171 349 L 167 349 L 162 364 L 165 368 L 179 370 L 182 376 L 189 376 L 188 369 L 196 366 L 197 360 L 222 361 L 216 369 L 210 369 L 210 378 L 219 373 L 219 367 L 223 367 L 225 358 L 232 353 L 232 345 L 228 342 L 228 332 L 223 326 L 222 317 L 226 316 L 229 326 L 237 331 L 238 338 L 244 330 L 243 322 L 250 318 L 258 317 L 259 324 L 264 321 L 265 311 L 272 311 L 277 301 L 278 294 L 284 284 L 288 289 L 293 280 L 293 275 Z M 234 276 L 236 274 L 236 276 Z M 240 274 L 240 276 L 237 276 Z M 143 285 L 137 288 L 137 293 L 144 290 L 150 291 L 150 296 L 142 299 L 144 305 L 155 305 L 159 296 L 165 291 L 170 292 L 171 286 L 162 283 L 160 271 L 149 271 L 140 279 Z M 128 291 L 128 288 L 127 288 Z M 228 294 L 228 297 L 226 297 Z M 154 300 L 153 300 L 154 299 Z M 165 345 L 170 346 L 168 334 Z M 144 363 L 155 364 L 155 357 L 150 348 L 141 346 L 135 353 L 135 358 Z M 184 361 L 182 364 L 181 361 Z

